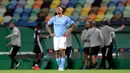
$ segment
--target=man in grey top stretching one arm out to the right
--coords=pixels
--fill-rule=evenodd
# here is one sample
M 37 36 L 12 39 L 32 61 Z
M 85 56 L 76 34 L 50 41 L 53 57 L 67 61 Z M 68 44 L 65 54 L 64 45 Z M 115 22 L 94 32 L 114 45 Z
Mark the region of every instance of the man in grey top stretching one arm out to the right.
M 109 64 L 109 69 L 112 69 L 113 67 L 113 62 L 112 62 L 112 47 L 111 47 L 111 43 L 112 43 L 112 32 L 116 32 L 116 31 L 121 31 L 125 28 L 125 25 L 122 25 L 120 28 L 112 28 L 109 26 L 110 25 L 110 21 L 106 20 L 104 21 L 104 26 L 102 26 L 100 28 L 103 37 L 104 37 L 104 48 L 102 48 L 102 62 L 100 64 L 100 67 L 102 69 L 105 69 L 105 62 L 106 60 L 108 61 Z

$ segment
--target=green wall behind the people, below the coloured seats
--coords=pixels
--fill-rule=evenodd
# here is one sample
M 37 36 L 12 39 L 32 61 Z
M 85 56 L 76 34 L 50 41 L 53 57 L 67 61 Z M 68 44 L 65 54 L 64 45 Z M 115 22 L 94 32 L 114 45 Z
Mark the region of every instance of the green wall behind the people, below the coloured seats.
M 129 27 L 130 28 L 130 27 Z M 122 53 L 128 53 L 129 50 L 127 50 L 128 48 L 130 48 L 130 29 L 128 27 L 124 30 L 125 32 L 117 32 L 116 33 L 116 41 L 117 41 L 117 47 L 120 48 L 124 48 L 124 51 L 120 51 L 119 52 Z M 33 47 L 34 47 L 34 39 L 33 39 L 33 30 L 32 28 L 27 28 L 27 27 L 19 27 L 20 31 L 21 31 L 21 39 L 22 39 L 22 47 L 20 52 L 27 52 L 25 54 L 29 54 L 28 52 L 32 52 L 33 51 Z M 10 67 L 10 59 L 8 57 L 8 52 L 10 50 L 9 48 L 6 48 L 5 45 L 10 41 L 10 40 L 5 40 L 5 36 L 8 35 L 9 33 L 11 33 L 10 29 L 7 27 L 0 27 L 0 69 L 8 69 Z M 45 35 L 48 35 L 48 33 L 45 33 Z M 80 69 L 82 67 L 83 64 L 83 60 L 82 60 L 82 54 L 80 54 L 79 52 L 82 50 L 83 48 L 83 43 L 80 40 L 80 36 L 81 36 L 81 32 L 78 32 L 76 34 L 72 34 L 72 45 L 73 45 L 73 68 L 74 69 Z M 78 39 L 78 41 L 77 41 Z M 44 49 L 46 50 L 46 52 L 49 52 L 49 50 L 53 49 L 53 42 L 52 42 L 52 38 L 51 39 L 45 39 L 44 40 L 45 45 L 43 45 Z M 46 48 L 45 48 L 46 47 Z M 77 49 L 77 50 L 76 50 Z M 52 52 L 51 52 L 52 53 Z M 75 55 L 76 54 L 76 55 Z M 78 55 L 77 55 L 78 54 Z M 50 54 L 54 55 L 53 54 Z M 129 54 L 126 54 L 129 55 Z M 33 58 L 31 57 L 31 59 L 33 60 Z M 20 69 L 31 69 L 32 68 L 32 60 L 20 60 L 22 62 L 22 65 L 20 66 Z M 117 61 L 117 60 L 115 60 Z M 100 60 L 99 60 L 100 62 Z M 119 57 L 118 60 L 119 64 L 117 64 L 116 68 L 119 69 L 130 69 L 130 58 L 127 57 L 125 58 L 125 55 L 123 55 L 123 57 Z M 50 60 L 50 63 L 47 67 L 48 69 L 56 69 L 57 65 L 55 62 L 55 58 L 52 57 Z

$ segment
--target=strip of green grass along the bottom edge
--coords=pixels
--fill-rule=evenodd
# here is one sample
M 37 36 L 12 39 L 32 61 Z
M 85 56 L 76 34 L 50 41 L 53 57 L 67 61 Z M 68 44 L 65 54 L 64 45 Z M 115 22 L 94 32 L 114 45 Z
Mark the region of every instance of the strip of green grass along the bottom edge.
M 0 73 L 130 73 L 130 70 L 0 70 Z

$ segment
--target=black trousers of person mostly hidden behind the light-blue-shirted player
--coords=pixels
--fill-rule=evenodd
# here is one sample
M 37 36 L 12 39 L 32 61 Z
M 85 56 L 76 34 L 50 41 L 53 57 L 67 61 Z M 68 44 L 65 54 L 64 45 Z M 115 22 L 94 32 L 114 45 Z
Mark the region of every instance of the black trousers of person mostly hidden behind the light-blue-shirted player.
M 65 54 L 67 56 L 67 63 L 68 63 L 67 68 L 69 68 L 69 69 L 71 69 L 71 66 L 72 66 L 72 60 L 71 60 L 71 57 L 70 57 L 71 53 L 72 53 L 72 46 L 67 47 L 66 50 L 65 50 Z

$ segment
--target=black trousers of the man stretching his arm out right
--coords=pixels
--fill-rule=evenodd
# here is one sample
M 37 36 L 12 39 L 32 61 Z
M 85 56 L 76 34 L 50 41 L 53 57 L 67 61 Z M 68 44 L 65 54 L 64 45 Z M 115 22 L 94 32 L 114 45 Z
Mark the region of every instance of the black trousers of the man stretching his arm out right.
M 106 61 L 109 64 L 108 68 L 113 68 L 112 50 L 113 43 L 111 43 L 109 46 L 105 46 L 104 48 L 102 48 L 102 60 L 100 68 L 106 69 Z

